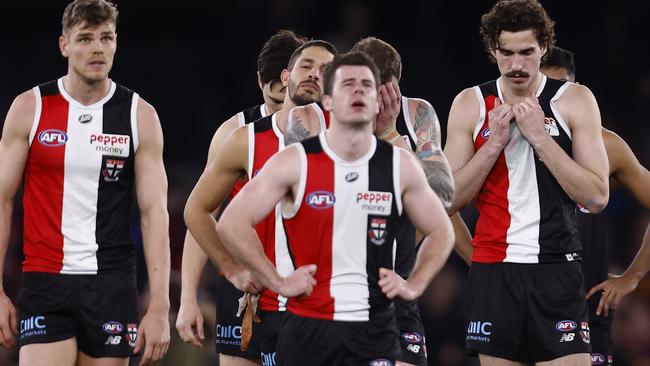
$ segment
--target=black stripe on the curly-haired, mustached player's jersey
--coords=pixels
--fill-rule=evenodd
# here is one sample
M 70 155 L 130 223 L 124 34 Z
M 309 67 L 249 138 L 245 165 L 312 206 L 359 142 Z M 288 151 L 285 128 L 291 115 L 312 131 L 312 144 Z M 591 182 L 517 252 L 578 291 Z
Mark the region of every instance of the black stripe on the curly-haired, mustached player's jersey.
M 544 90 L 539 96 L 539 104 L 546 118 L 553 118 L 557 125 L 559 136 L 552 136 L 553 140 L 571 157 L 571 139 L 551 110 L 551 99 L 564 83 L 564 81 L 547 78 Z M 539 261 L 566 260 L 564 254 L 579 252 L 582 249 L 576 223 L 576 204 L 562 189 L 546 164 L 539 159 L 537 152 L 535 152 L 535 170 L 540 206 Z

